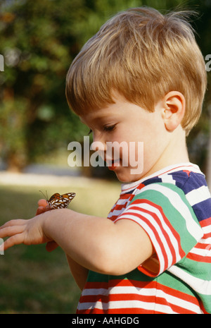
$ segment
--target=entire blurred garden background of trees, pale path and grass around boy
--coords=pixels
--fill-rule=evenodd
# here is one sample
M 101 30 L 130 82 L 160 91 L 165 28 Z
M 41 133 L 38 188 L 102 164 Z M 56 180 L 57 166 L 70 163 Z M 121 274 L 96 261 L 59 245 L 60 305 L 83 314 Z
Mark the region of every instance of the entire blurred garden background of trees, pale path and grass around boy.
M 101 216 L 109 212 L 120 192 L 113 172 L 68 167 L 69 142 L 82 142 L 88 128 L 68 108 L 65 76 L 84 42 L 110 16 L 142 5 L 161 11 L 177 6 L 198 11 L 192 22 L 196 40 L 204 57 L 211 54 L 211 0 L 0 0 L 0 54 L 4 56 L 4 71 L 0 72 L 0 224 L 32 217 L 42 197 L 40 189 L 49 195 L 75 191 L 71 207 L 79 212 Z M 211 70 L 211 63 L 207 68 Z M 188 137 L 188 149 L 191 161 L 209 175 L 209 71 L 207 76 L 203 115 Z M 55 173 L 52 167 L 63 168 L 65 173 L 59 171 L 58 176 L 56 171 L 50 183 L 45 174 Z M 21 173 L 17 177 L 14 171 Z M 63 174 L 70 180 L 64 183 Z M 83 180 L 84 176 L 107 179 Z M 0 313 L 75 312 L 79 288 L 60 249 L 49 254 L 44 245 L 19 245 L 0 255 L 0 262 Z

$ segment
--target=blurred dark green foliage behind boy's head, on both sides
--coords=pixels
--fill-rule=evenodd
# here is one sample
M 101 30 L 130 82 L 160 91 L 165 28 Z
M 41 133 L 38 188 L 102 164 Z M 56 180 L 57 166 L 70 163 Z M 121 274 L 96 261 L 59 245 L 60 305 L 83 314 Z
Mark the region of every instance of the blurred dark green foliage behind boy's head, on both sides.
M 129 7 L 169 10 L 180 4 L 199 11 L 198 43 L 204 56 L 209 54 L 211 0 L 1 0 L 0 152 L 8 168 L 22 169 L 87 133 L 68 109 L 65 75 L 84 42 L 110 16 Z M 209 103 L 210 94 L 205 109 Z M 190 145 L 197 138 L 201 142 L 201 130 L 207 135 L 207 112 Z M 200 152 L 193 147 L 192 153 Z

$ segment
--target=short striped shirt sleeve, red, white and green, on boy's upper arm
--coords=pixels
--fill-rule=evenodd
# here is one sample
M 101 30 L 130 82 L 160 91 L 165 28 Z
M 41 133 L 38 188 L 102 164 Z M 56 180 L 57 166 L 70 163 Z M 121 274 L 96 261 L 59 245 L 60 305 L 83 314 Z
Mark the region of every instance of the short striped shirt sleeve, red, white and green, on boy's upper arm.
M 156 277 L 186 257 L 203 236 L 198 219 L 184 192 L 171 183 L 152 183 L 139 190 L 129 206 L 115 220 L 136 221 L 148 233 L 158 272 L 140 265 L 138 269 Z M 140 250 L 141 251 L 141 250 Z

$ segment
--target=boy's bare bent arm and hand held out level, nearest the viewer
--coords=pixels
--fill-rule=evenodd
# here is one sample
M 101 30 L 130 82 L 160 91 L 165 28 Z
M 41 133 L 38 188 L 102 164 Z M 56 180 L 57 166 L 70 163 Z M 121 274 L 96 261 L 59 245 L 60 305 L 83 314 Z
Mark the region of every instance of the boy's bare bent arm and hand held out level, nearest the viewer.
M 82 267 L 102 274 L 132 271 L 153 254 L 148 234 L 136 222 L 92 217 L 71 209 L 53 209 L 30 220 L 12 220 L 0 228 L 0 238 L 11 236 L 5 250 L 55 241 Z

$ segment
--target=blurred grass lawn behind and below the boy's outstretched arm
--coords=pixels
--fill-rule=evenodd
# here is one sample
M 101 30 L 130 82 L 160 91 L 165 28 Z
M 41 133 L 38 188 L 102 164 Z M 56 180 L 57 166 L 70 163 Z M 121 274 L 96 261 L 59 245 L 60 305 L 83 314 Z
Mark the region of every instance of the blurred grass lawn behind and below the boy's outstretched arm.
M 46 187 L 48 194 L 75 192 L 71 208 L 106 217 L 120 193 L 118 183 L 94 181 L 90 188 Z M 0 225 L 30 219 L 43 198 L 37 186 L 0 186 Z M 75 313 L 80 291 L 63 250 L 48 253 L 45 245 L 15 245 L 0 255 L 0 313 Z

